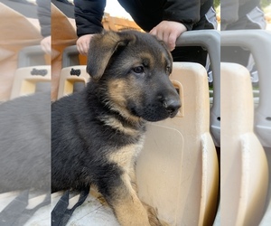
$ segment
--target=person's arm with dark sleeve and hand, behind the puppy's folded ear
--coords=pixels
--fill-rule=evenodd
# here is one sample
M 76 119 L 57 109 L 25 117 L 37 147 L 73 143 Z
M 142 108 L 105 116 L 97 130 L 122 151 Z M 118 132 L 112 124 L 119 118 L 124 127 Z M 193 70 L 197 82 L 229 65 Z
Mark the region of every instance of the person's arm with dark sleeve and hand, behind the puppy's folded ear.
M 106 0 L 75 0 L 74 14 L 79 39 L 76 42 L 80 54 L 87 55 L 94 33 L 103 31 L 102 17 Z

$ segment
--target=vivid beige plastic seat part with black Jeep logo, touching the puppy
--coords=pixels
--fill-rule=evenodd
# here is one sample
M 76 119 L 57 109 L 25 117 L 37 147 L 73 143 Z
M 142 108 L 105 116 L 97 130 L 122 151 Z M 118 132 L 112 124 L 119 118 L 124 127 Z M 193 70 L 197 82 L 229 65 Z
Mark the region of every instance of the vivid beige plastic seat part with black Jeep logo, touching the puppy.
M 90 76 L 86 71 L 86 65 L 63 68 L 61 70 L 58 99 L 73 93 L 73 86 L 75 82 L 83 82 L 86 84 L 89 81 L 89 78 Z

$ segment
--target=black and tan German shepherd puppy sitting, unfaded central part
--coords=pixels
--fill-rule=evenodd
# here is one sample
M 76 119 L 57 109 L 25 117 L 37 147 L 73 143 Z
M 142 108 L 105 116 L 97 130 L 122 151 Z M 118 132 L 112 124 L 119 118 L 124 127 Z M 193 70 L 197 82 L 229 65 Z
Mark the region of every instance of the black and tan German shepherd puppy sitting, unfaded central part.
M 137 197 L 135 159 L 146 121 L 173 118 L 181 107 L 172 68 L 171 53 L 151 34 L 92 38 L 86 88 L 51 106 L 52 192 L 91 184 L 122 226 L 162 225 Z

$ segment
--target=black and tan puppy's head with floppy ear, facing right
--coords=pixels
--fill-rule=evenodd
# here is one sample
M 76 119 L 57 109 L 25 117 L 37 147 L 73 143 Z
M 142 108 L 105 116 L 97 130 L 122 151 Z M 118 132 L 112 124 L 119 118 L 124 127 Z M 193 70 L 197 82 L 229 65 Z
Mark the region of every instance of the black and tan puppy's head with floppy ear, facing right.
M 181 107 L 169 75 L 173 60 L 163 42 L 135 31 L 97 34 L 90 42 L 87 71 L 113 110 L 158 121 Z

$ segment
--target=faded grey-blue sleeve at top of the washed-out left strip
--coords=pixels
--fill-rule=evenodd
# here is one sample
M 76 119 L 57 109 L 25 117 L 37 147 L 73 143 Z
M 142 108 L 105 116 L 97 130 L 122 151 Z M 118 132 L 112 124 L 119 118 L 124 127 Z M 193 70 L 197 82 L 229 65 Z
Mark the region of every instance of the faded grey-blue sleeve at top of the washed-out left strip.
M 37 13 L 41 25 L 41 33 L 43 37 L 51 35 L 51 1 L 37 0 Z

